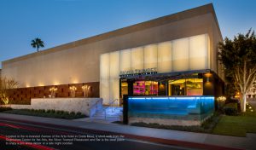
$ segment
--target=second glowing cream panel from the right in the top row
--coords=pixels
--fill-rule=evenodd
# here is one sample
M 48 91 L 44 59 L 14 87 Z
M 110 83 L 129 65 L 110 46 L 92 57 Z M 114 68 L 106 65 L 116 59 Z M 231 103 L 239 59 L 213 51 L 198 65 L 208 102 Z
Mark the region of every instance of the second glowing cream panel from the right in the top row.
M 172 41 L 172 63 L 174 72 L 189 70 L 189 38 Z

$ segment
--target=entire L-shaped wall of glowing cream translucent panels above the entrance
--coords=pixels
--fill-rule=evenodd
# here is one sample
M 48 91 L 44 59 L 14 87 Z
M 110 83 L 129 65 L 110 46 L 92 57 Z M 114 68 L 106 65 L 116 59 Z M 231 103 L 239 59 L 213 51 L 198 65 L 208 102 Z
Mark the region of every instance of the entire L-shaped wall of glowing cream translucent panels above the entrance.
M 119 72 L 157 67 L 157 72 L 207 69 L 208 35 L 145 45 L 101 55 L 100 84 L 104 104 L 119 99 Z M 116 103 L 117 104 L 117 103 Z

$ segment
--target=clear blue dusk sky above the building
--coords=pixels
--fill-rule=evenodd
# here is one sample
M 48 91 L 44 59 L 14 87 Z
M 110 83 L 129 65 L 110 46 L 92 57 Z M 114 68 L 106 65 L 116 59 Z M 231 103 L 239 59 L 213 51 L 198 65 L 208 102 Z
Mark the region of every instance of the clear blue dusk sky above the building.
M 223 37 L 256 30 L 255 0 L 0 0 L 0 61 L 213 3 Z M 2 66 L 0 66 L 2 67 Z

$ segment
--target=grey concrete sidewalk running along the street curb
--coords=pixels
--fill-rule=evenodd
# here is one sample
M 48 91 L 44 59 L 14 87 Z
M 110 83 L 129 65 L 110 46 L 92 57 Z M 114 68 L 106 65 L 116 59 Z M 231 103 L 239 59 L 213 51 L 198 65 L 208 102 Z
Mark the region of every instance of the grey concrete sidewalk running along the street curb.
M 25 115 L 16 115 L 8 113 L 0 113 L 1 118 L 24 120 L 41 124 L 55 124 L 67 127 L 74 127 L 86 130 L 100 130 L 111 133 L 119 133 L 130 136 L 144 136 L 148 138 L 158 138 L 172 140 L 182 143 L 189 142 L 199 145 L 211 145 L 216 147 L 237 148 L 237 149 L 256 149 L 254 134 L 247 134 L 247 137 L 236 136 L 218 136 L 203 133 L 193 133 L 177 130 L 160 130 L 145 127 L 130 126 L 124 124 L 101 124 L 94 122 L 73 121 L 60 118 L 42 118 Z M 211 148 L 209 148 L 211 149 Z

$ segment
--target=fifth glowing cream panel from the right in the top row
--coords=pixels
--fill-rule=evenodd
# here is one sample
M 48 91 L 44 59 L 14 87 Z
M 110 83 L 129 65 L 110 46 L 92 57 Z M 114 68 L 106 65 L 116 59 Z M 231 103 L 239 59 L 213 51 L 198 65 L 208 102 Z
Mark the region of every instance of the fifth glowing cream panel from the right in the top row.
M 131 70 L 143 69 L 143 47 L 131 49 Z

